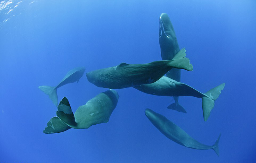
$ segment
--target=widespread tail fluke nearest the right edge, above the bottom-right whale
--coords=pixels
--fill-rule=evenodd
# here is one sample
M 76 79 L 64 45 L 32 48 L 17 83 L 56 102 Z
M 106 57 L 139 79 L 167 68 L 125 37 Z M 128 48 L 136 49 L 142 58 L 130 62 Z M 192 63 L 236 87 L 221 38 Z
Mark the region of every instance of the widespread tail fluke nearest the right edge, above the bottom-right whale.
M 204 121 L 206 122 L 211 114 L 211 110 L 214 107 L 214 101 L 218 99 L 221 90 L 225 87 L 225 83 L 218 85 L 212 88 L 210 91 L 205 93 L 205 96 L 202 97 L 202 106 L 203 106 L 203 114 Z

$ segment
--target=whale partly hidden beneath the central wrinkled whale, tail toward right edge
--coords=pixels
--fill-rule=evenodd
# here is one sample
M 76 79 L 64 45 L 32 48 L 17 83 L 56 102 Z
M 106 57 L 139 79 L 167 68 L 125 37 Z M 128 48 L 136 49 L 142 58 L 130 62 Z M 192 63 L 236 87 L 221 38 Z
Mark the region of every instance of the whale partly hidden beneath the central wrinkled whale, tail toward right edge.
M 214 101 L 219 97 L 221 90 L 224 89 L 225 83 L 212 88 L 206 93 L 201 93 L 196 89 L 184 83 L 177 82 L 171 78 L 163 76 L 155 83 L 134 86 L 141 92 L 153 94 L 157 96 L 193 96 L 202 98 L 202 107 L 204 121 L 207 121 L 214 107 Z M 187 113 L 186 110 L 178 110 Z

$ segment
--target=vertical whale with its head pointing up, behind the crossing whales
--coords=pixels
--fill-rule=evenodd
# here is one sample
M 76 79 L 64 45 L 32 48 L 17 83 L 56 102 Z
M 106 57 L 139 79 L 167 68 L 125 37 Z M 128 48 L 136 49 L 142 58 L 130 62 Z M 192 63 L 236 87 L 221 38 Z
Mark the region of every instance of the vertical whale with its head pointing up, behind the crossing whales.
M 162 13 L 159 18 L 159 44 L 162 60 L 172 59 L 180 50 L 172 22 L 166 13 Z M 173 68 L 166 76 L 180 82 L 180 69 Z M 185 109 L 179 104 L 179 97 L 173 98 L 175 103 L 167 108 L 183 112 Z

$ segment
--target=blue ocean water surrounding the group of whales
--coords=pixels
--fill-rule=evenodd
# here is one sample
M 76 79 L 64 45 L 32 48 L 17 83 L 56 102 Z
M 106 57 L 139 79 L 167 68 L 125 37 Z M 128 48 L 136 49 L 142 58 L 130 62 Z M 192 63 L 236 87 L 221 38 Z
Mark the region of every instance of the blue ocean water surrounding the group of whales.
M 256 2 L 20 1 L 0 2 L 0 162 L 255 162 Z M 205 93 L 225 82 L 207 122 L 201 99 L 180 97 L 187 114 L 166 109 L 171 97 L 119 89 L 108 123 L 44 134 L 57 108 L 38 86 L 57 85 L 84 66 L 101 68 L 161 60 L 159 17 L 166 12 L 194 70 L 181 82 Z M 58 89 L 73 112 L 99 88 L 84 76 Z M 165 137 L 145 116 L 150 108 L 220 156 Z

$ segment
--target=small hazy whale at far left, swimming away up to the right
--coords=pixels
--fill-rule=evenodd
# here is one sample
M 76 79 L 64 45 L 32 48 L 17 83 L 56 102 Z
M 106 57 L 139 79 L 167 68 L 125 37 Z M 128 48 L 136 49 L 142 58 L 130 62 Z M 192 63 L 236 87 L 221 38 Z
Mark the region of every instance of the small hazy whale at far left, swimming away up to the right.
M 79 79 L 84 75 L 85 68 L 84 67 L 77 67 L 74 68 L 65 75 L 65 77 L 60 81 L 60 84 L 57 86 L 47 86 L 42 85 L 38 88 L 41 89 L 45 94 L 49 95 L 49 98 L 52 100 L 55 106 L 58 105 L 58 95 L 57 95 L 57 89 L 60 88 L 63 85 L 66 85 L 68 83 L 74 83 L 79 81 Z

